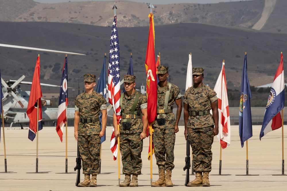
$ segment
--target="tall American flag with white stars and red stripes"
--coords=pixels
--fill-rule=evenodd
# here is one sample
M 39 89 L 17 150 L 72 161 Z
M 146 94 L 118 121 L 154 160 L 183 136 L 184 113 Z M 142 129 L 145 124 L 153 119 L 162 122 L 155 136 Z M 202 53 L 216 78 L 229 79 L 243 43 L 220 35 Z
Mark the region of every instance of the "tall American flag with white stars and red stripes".
M 110 59 L 108 65 L 108 101 L 113 105 L 114 112 L 117 116 L 117 123 L 121 120 L 121 108 L 120 108 L 120 52 L 119 52 L 119 36 L 117 31 L 117 16 L 114 16 L 114 22 L 112 27 L 112 34 L 110 36 Z M 110 139 L 110 149 L 114 154 L 114 160 L 117 159 L 117 138 L 114 135 L 114 128 Z

